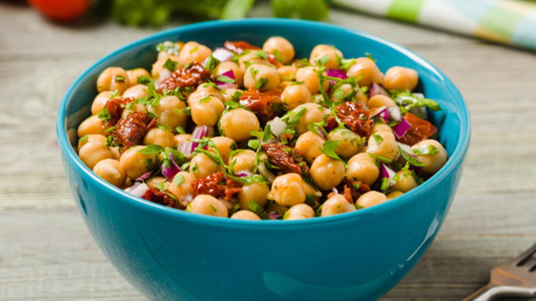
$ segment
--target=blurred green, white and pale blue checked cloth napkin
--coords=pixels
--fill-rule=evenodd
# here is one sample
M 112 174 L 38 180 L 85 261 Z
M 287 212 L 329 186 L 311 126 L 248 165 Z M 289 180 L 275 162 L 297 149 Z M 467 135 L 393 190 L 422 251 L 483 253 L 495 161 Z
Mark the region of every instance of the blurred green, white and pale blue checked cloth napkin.
M 334 5 L 536 50 L 536 2 L 332 0 Z

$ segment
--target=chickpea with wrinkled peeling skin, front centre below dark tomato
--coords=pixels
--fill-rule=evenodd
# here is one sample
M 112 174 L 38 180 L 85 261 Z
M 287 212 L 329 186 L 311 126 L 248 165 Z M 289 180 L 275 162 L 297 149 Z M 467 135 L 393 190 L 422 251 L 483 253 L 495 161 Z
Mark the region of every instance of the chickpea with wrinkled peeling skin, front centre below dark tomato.
M 283 206 L 293 206 L 305 202 L 302 177 L 296 173 L 276 177 L 272 182 L 272 190 L 268 194 L 268 198 Z

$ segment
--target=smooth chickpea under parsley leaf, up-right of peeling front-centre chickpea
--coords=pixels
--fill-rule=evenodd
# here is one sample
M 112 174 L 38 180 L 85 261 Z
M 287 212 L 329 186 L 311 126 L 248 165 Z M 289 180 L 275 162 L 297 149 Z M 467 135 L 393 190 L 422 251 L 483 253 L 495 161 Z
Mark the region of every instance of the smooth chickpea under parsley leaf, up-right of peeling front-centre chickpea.
M 343 181 L 344 163 L 331 159 L 324 153 L 318 156 L 311 165 L 311 177 L 316 186 L 322 190 L 330 190 Z

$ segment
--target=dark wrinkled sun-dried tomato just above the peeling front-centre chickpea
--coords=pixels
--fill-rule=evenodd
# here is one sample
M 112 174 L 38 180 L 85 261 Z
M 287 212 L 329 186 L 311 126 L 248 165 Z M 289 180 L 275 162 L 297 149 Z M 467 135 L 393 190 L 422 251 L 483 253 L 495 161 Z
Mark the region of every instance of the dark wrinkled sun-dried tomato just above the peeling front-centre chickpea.
M 298 149 L 279 143 L 267 143 L 263 145 L 263 151 L 270 164 L 279 167 L 283 173 L 309 173 L 309 167 L 303 161 L 303 153 Z

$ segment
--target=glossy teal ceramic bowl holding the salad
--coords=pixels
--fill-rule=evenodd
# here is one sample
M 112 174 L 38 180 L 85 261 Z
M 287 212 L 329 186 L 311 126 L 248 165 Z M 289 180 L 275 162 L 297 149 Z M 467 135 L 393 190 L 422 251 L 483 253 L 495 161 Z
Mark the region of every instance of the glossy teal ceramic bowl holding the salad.
M 150 69 L 162 41 L 226 40 L 262 45 L 284 36 L 296 57 L 333 44 L 346 57 L 370 52 L 385 72 L 419 72 L 450 159 L 425 184 L 390 202 L 299 221 L 222 219 L 170 209 L 126 194 L 77 157 L 76 128 L 90 115 L 95 81 L 108 66 Z M 470 117 L 456 87 L 415 53 L 381 38 L 329 24 L 285 19 L 211 21 L 165 30 L 98 61 L 61 104 L 57 135 L 76 204 L 96 243 L 134 287 L 154 300 L 373 300 L 389 291 L 426 251 L 449 210 L 470 140 Z

